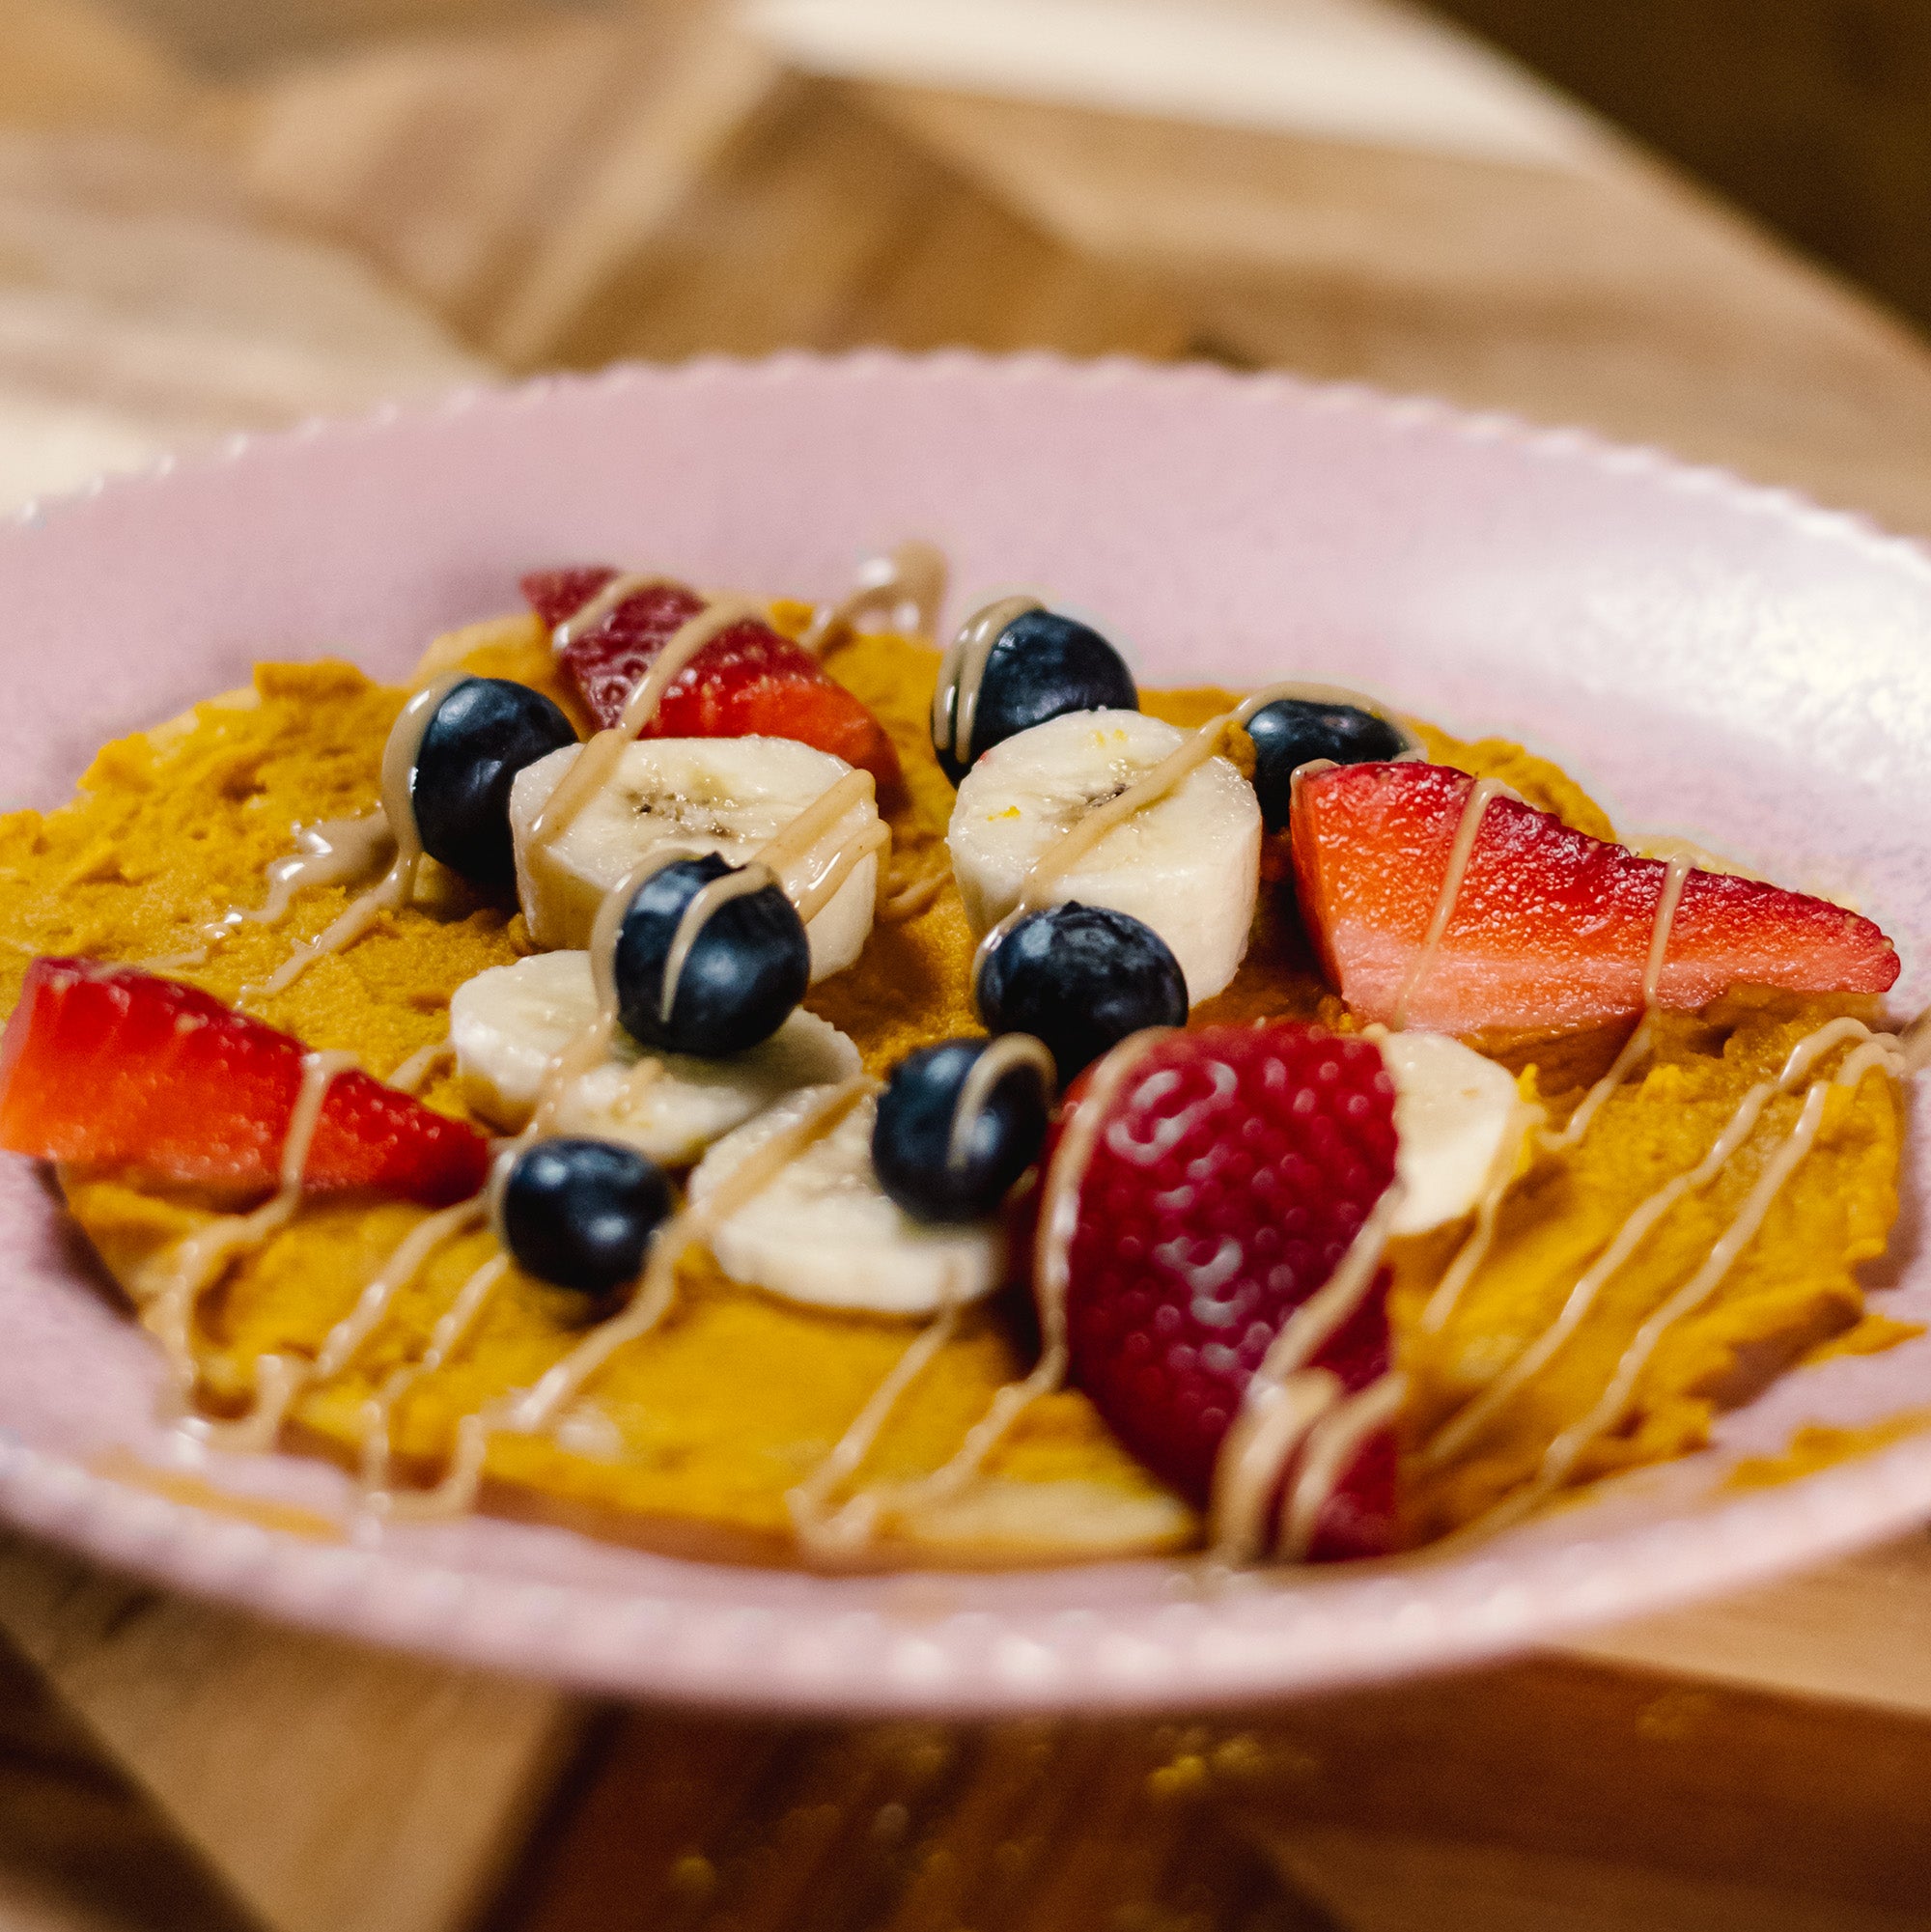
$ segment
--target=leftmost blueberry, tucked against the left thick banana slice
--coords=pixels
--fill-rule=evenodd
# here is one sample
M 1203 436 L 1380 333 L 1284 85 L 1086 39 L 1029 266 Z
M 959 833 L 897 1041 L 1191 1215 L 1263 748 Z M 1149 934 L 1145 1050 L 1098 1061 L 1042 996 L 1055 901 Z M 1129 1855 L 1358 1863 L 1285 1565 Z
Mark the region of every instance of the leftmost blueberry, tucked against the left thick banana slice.
M 431 715 L 409 773 L 423 850 L 471 885 L 516 885 L 510 786 L 525 765 L 575 742 L 575 726 L 543 692 L 463 678 Z

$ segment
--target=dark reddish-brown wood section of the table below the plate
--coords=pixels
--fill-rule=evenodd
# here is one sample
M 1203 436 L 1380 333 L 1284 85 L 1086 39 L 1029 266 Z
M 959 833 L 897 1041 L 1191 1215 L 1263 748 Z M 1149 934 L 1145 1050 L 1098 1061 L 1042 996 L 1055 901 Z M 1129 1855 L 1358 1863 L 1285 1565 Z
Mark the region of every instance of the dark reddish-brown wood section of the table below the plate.
M 1890 1932 L 1931 1725 L 1531 1662 L 1238 1716 L 612 1718 L 494 1932 Z

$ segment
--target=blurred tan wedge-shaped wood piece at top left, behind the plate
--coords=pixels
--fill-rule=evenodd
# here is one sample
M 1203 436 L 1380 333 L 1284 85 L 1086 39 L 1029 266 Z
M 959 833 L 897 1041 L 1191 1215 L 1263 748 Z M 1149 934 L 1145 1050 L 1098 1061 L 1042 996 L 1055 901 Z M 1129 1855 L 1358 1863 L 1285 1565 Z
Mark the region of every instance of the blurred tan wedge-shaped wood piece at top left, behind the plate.
M 234 153 L 268 214 L 533 367 L 774 83 L 716 6 L 682 0 L 295 66 L 255 89 Z

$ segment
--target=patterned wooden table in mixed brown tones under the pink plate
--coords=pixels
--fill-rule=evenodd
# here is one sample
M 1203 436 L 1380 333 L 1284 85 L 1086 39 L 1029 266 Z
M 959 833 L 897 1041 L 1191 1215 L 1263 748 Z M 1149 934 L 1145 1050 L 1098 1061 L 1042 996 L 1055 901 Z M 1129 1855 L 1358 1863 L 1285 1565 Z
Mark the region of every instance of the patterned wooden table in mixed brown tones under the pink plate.
M 490 371 L 973 342 L 1433 390 L 1931 533 L 1931 354 L 1415 15 L 458 12 L 307 0 L 276 62 L 266 15 L 143 0 L 141 37 L 0 0 L 0 497 Z M 1925 1538 L 1502 1669 L 1172 1721 L 620 1710 L 23 1540 L 0 1633 L 0 1926 L 1931 1917 Z

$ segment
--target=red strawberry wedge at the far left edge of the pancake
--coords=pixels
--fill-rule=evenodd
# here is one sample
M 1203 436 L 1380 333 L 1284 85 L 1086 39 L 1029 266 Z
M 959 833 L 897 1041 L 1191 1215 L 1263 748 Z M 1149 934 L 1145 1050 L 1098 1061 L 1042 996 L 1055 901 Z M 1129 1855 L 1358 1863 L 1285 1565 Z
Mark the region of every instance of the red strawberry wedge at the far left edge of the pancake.
M 39 958 L 0 1036 L 0 1148 L 266 1194 L 301 1090 L 301 1041 L 137 966 Z M 365 1072 L 322 1101 L 305 1186 L 446 1208 L 489 1142 Z

